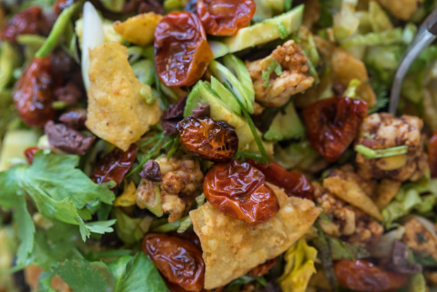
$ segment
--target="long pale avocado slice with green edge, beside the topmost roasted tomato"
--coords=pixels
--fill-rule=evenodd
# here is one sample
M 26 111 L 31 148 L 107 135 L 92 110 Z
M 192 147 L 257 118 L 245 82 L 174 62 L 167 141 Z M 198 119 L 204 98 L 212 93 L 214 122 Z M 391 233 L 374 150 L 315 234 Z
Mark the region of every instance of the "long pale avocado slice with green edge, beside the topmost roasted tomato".
M 302 25 L 303 13 L 304 5 L 301 4 L 279 16 L 242 28 L 238 30 L 236 35 L 226 37 L 222 42 L 228 46 L 230 53 L 271 42 L 281 37 L 278 28 L 281 24 L 287 29 L 289 34 L 299 30 Z

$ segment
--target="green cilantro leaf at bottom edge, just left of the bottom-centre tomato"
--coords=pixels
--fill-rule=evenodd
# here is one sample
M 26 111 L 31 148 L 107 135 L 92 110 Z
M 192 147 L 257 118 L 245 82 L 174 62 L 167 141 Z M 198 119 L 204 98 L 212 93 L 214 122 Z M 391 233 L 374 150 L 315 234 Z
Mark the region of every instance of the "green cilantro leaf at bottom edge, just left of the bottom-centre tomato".
M 144 255 L 120 257 L 109 264 L 114 278 L 114 292 L 162 292 L 168 291 L 158 269 Z

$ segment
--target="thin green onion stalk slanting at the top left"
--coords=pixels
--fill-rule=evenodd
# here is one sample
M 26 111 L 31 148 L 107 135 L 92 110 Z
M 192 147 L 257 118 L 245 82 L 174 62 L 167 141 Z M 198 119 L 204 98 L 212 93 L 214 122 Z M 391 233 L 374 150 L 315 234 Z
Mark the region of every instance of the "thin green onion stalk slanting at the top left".
M 63 33 L 66 31 L 67 25 L 70 22 L 73 14 L 82 6 L 82 1 L 76 2 L 72 6 L 65 8 L 56 19 L 56 23 L 50 31 L 49 37 L 41 48 L 35 53 L 37 58 L 45 58 L 51 54 L 51 51 L 58 45 Z

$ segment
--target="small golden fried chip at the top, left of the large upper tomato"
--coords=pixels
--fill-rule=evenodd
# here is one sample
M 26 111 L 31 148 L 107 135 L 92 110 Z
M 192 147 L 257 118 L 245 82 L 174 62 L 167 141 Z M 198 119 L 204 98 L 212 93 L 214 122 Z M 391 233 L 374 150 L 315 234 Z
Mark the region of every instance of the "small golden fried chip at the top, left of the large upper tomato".
M 142 13 L 128 18 L 123 23 L 116 21 L 113 23 L 113 29 L 129 42 L 144 47 L 152 44 L 156 25 L 161 18 L 160 14 L 154 12 Z

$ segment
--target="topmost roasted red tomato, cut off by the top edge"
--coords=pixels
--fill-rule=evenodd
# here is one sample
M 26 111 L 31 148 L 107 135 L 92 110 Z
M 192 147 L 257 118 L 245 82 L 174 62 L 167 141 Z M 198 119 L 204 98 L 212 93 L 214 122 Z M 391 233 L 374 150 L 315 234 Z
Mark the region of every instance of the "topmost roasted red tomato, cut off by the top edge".
M 208 35 L 235 35 L 250 23 L 257 5 L 252 0 L 197 1 L 197 15 Z

